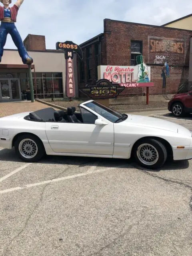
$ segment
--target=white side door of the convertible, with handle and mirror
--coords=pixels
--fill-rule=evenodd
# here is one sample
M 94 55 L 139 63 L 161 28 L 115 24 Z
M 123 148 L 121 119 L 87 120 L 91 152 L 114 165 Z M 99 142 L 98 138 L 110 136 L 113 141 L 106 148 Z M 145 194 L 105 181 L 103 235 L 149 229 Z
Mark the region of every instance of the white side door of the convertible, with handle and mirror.
M 95 125 L 98 118 L 82 110 L 84 123 L 46 122 L 46 135 L 54 152 L 112 155 L 114 148 L 113 123 Z

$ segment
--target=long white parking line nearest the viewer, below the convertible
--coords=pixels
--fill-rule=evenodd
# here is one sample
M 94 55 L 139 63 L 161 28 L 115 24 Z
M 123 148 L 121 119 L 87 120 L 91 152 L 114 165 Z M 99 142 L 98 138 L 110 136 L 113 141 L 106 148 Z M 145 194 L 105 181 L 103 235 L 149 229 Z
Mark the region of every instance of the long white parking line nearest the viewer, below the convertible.
M 35 186 L 40 186 L 40 185 L 44 185 L 44 184 L 48 184 L 48 183 L 58 182 L 58 181 L 61 181 L 61 180 L 69 180 L 69 179 L 73 179 L 73 178 L 77 178 L 77 177 L 81 177 L 81 176 L 86 176 L 86 175 L 89 175 L 89 174 L 95 174 L 95 173 L 99 173 L 99 172 L 114 170 L 114 169 L 118 169 L 118 168 L 121 168 L 121 167 L 124 167 L 124 166 L 125 165 L 121 165 L 121 166 L 118 166 L 118 167 L 108 167 L 108 168 L 104 168 L 104 169 L 100 169 L 100 170 L 90 170 L 89 169 L 87 172 L 74 174 L 74 175 L 71 175 L 71 176 L 66 176 L 66 177 L 57 178 L 57 179 L 53 179 L 53 180 L 45 180 L 45 181 L 38 182 L 38 183 L 33 183 L 33 184 L 27 184 L 27 185 L 24 185 L 22 187 L 15 187 L 15 188 L 9 188 L 9 189 L 6 189 L 6 190 L 0 190 L 0 194 L 4 194 L 4 193 L 16 191 L 16 190 L 21 190 L 21 189 L 24 189 L 24 188 L 32 188 L 32 187 L 35 187 Z

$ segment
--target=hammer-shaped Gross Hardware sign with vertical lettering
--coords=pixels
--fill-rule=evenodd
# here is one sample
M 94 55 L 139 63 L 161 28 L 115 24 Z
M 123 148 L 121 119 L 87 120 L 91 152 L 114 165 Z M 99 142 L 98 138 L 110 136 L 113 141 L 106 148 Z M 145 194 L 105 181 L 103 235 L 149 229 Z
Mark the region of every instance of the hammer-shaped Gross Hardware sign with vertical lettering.
M 74 52 L 78 54 L 79 58 L 83 59 L 83 52 L 77 44 L 74 44 L 72 41 L 66 41 L 64 43 L 56 43 L 57 50 L 63 50 L 65 53 L 66 60 L 66 96 L 69 98 L 75 97 L 75 79 L 74 79 L 74 65 L 73 65 L 73 56 Z

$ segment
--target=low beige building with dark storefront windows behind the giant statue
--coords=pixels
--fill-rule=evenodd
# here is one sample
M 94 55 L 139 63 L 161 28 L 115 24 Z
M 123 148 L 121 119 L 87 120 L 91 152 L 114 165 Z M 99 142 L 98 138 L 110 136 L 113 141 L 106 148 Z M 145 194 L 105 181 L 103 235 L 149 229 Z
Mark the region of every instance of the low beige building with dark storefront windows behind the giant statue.
M 30 36 L 36 39 L 34 35 Z M 29 40 L 25 39 L 25 41 Z M 32 45 L 34 48 L 33 43 Z M 43 42 L 42 46 L 44 45 Z M 65 98 L 66 60 L 64 52 L 41 49 L 40 44 L 37 47 L 38 50 L 30 50 L 29 43 L 26 48 L 33 58 L 31 69 L 34 98 Z M 76 97 L 78 97 L 76 54 L 74 54 L 74 77 Z M 28 66 L 22 63 L 17 50 L 4 50 L 0 63 L 0 97 L 4 102 L 30 100 Z

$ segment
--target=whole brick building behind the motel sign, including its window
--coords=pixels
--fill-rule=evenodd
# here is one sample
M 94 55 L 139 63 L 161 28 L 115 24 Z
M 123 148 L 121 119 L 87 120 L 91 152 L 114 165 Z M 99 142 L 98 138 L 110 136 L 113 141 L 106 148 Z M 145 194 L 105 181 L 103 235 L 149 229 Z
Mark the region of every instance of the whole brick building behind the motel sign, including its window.
M 98 79 L 97 66 L 135 66 L 136 56 L 142 54 L 154 82 L 150 94 L 174 94 L 188 81 L 191 37 L 191 30 L 105 19 L 104 32 L 80 45 L 84 54 L 82 61 L 78 59 L 80 88 Z M 170 66 L 170 77 L 163 89 L 164 62 Z M 145 93 L 146 88 L 126 88 L 120 96 Z

